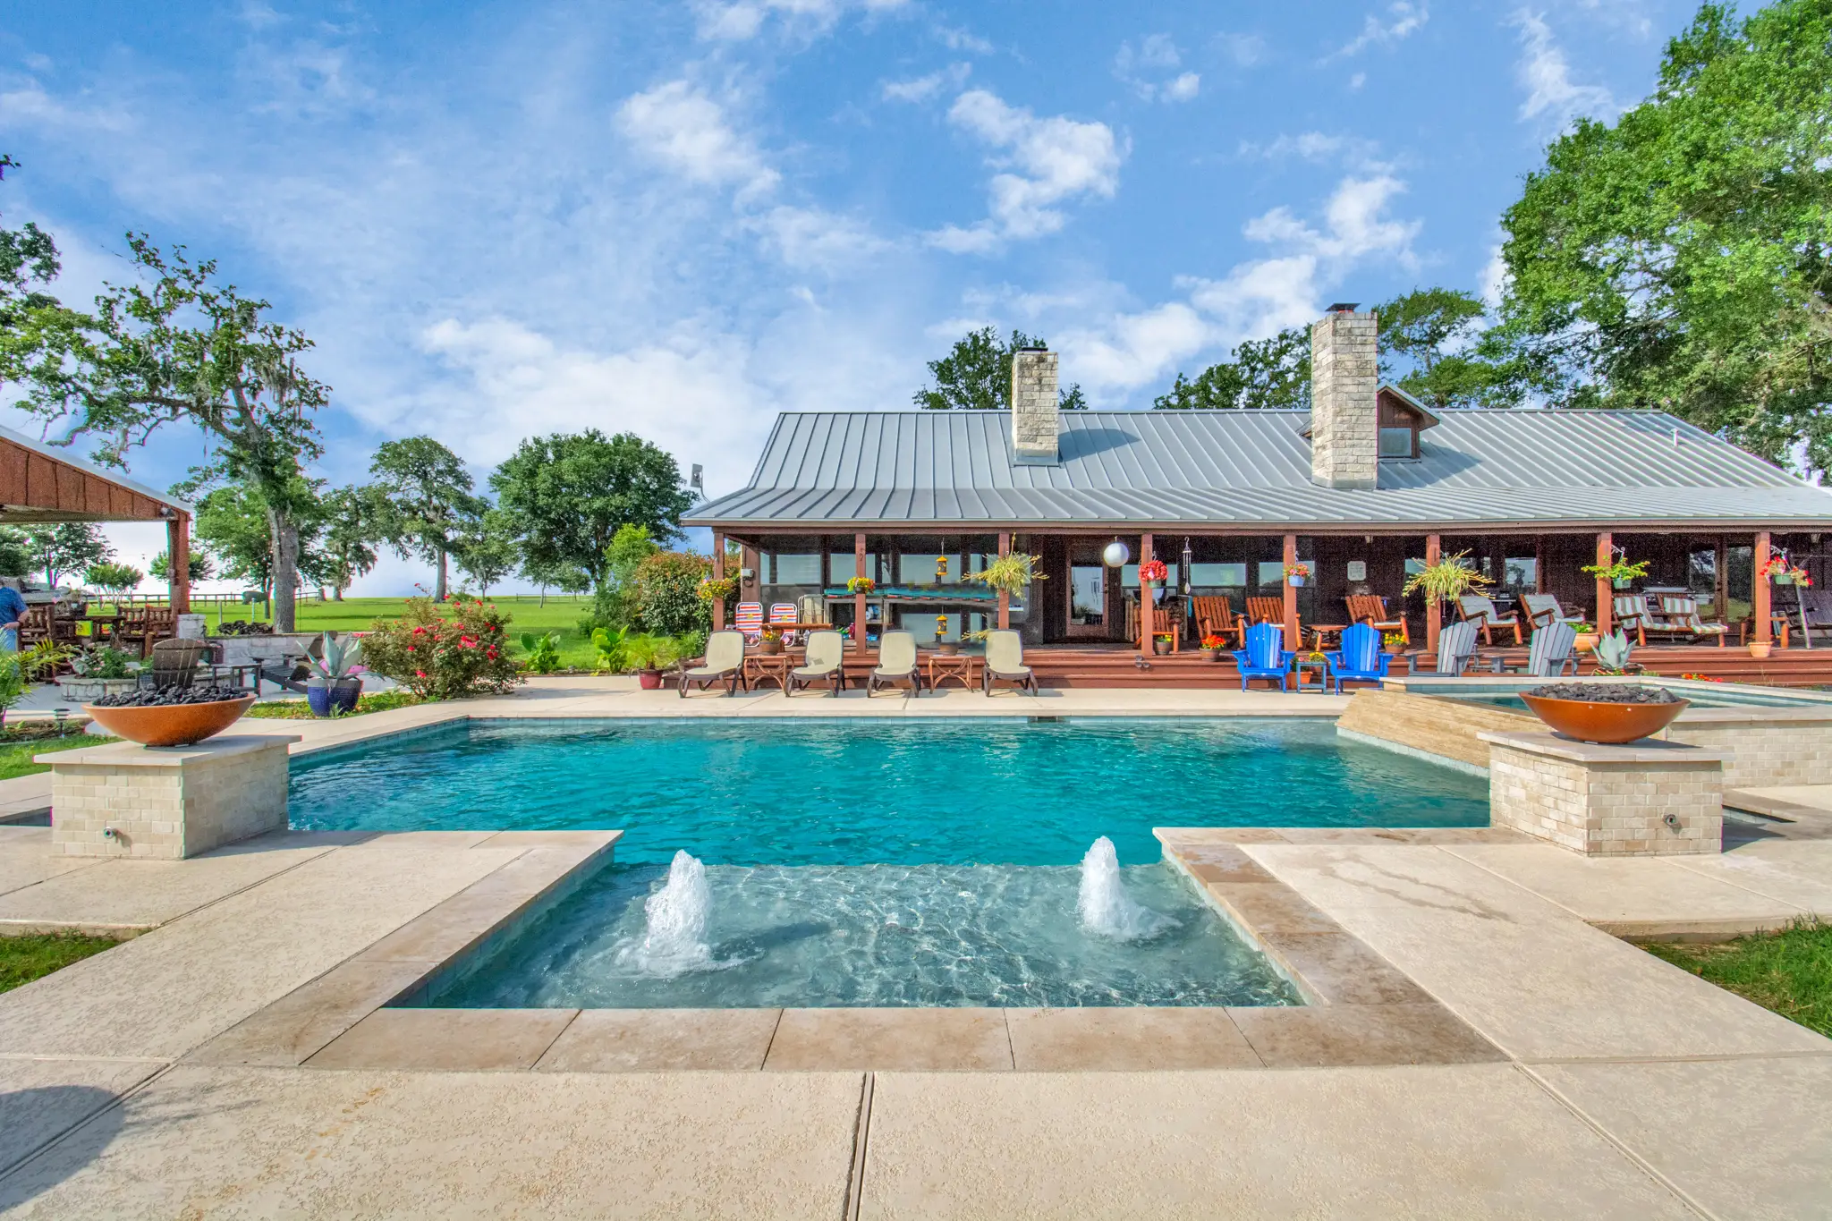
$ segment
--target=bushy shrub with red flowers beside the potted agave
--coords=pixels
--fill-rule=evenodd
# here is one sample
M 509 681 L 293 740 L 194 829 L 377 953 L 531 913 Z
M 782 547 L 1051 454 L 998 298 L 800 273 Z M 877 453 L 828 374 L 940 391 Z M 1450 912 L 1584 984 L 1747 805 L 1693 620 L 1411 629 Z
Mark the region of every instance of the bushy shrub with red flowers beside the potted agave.
M 377 619 L 363 637 L 363 659 L 421 699 L 502 694 L 522 681 L 502 632 L 507 621 L 462 593 L 443 604 L 407 599 L 399 619 Z

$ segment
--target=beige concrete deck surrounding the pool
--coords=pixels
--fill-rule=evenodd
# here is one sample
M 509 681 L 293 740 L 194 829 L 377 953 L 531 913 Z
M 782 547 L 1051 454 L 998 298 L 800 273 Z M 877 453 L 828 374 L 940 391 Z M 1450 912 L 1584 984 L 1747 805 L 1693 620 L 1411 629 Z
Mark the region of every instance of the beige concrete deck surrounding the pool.
M 559 681 L 500 701 L 238 732 L 304 732 L 295 751 L 313 751 L 454 710 L 832 716 L 856 703 L 680 701 Z M 1343 703 L 1064 690 L 881 697 L 874 714 L 1332 716 Z M 249 1049 L 280 1034 L 304 1049 L 324 1029 L 350 1029 L 335 1003 L 282 1003 L 339 972 L 409 978 L 485 935 L 590 859 L 597 846 L 573 835 L 286 833 L 145 862 L 53 860 L 48 829 L 0 827 L 0 921 L 145 930 L 0 994 L 0 1212 L 1781 1217 L 1832 1199 L 1832 1040 L 1605 932 L 1722 935 L 1832 915 L 1832 838 L 1759 829 L 1722 857 L 1625 860 L 1469 831 L 1165 831 L 1185 853 L 1207 848 L 1198 864 L 1238 884 L 1264 886 L 1251 875 L 1262 871 L 1295 891 L 1341 934 L 1293 924 L 1293 937 L 1354 937 L 1495 1049 L 1477 1064 L 1260 1067 L 1249 1045 L 1251 1060 L 1216 1071 L 1088 1071 L 1101 1065 L 1086 1058 L 1055 1062 L 1083 1071 L 1015 1060 L 1002 1071 L 619 1071 L 628 1065 L 588 1054 L 528 1067 L 539 1058 L 507 1043 L 496 1071 L 225 1062 L 238 1029 Z M 454 902 L 471 924 L 449 926 L 447 943 L 403 937 Z M 1039 1023 L 1030 1031 L 1002 1023 L 1013 1051 L 1052 1021 L 1026 1012 L 1041 1012 L 1024 1018 Z M 553 1018 L 548 1049 L 588 1020 L 616 1021 Z M 997 1051 L 984 1023 L 954 1021 L 960 1038 Z

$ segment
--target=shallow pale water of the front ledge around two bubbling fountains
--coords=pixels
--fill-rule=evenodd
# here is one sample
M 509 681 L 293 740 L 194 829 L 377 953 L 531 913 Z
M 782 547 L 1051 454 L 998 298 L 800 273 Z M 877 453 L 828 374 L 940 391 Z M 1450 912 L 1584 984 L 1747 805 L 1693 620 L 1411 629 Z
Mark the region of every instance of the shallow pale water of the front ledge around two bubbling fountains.
M 1119 941 L 1075 917 L 1075 868 L 714 866 L 709 959 L 658 970 L 634 948 L 661 866 L 612 866 L 474 974 L 434 992 L 465 1009 L 834 1005 L 1295 1005 L 1266 957 L 1171 866 L 1121 870 L 1165 917 Z

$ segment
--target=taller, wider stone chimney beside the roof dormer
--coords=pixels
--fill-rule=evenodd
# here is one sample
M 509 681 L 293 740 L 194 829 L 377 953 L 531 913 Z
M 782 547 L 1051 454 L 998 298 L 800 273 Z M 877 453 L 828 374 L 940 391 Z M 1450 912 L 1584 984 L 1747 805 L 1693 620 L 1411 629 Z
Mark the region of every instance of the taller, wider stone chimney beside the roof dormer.
M 1310 328 L 1310 481 L 1374 487 L 1379 474 L 1379 322 L 1352 304 Z

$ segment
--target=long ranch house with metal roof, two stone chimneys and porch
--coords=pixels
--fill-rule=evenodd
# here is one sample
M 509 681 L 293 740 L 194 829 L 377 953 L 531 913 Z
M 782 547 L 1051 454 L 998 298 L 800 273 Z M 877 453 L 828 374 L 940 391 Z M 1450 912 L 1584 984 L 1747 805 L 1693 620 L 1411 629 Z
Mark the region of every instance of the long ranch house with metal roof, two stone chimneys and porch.
M 1198 606 L 1271 617 L 1268 600 L 1308 643 L 1352 621 L 1350 595 L 1387 599 L 1434 644 L 1442 608 L 1401 589 L 1456 553 L 1502 613 L 1552 593 L 1607 628 L 1618 591 L 1585 566 L 1647 560 L 1636 593 L 1693 593 L 1737 624 L 1731 643 L 1768 641 L 1772 555 L 1823 566 L 1832 492 L 1658 412 L 1431 410 L 1379 384 L 1374 337 L 1354 308 L 1312 328 L 1308 412 L 1063 412 L 1057 355 L 1037 350 L 1013 359 L 1008 412 L 784 414 L 751 481 L 687 522 L 713 529 L 716 564 L 736 544 L 742 600 L 920 639 L 1006 621 L 1041 646 L 1140 652 L 1202 632 Z M 1044 580 L 1000 608 L 965 577 L 1009 549 L 1041 556 Z M 1152 558 L 1167 589 L 1141 599 Z M 859 575 L 870 599 L 846 588 Z

